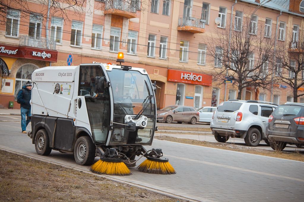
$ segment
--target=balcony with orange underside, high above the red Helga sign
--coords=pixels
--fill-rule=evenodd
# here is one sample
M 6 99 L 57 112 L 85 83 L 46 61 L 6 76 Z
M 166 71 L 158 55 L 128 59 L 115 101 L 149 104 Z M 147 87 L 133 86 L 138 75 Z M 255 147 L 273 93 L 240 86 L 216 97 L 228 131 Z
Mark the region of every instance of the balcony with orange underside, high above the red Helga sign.
M 205 33 L 205 21 L 198 18 L 185 17 L 178 19 L 178 31 Z

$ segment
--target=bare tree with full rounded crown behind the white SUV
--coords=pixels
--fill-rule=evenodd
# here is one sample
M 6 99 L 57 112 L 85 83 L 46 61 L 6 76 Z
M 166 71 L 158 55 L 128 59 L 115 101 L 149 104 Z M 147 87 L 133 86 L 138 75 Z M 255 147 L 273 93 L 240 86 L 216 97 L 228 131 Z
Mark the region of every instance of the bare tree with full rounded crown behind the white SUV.
M 273 40 L 264 37 L 264 27 L 257 24 L 257 16 L 243 16 L 243 12 L 236 11 L 233 23 L 216 28 L 206 43 L 212 56 L 209 58 L 214 58 L 215 80 L 232 80 L 238 86 L 237 99 L 242 98 L 242 90 L 247 87 L 268 89 L 274 47 Z

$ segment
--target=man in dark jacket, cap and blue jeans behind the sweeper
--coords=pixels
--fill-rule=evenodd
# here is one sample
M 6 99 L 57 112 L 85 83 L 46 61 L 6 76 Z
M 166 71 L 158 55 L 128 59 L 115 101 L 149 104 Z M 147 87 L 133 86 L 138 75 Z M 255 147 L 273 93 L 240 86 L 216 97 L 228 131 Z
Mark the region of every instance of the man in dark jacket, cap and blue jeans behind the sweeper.
M 21 107 L 21 128 L 22 133 L 26 133 L 26 126 L 31 121 L 29 117 L 31 114 L 31 104 L 29 101 L 31 100 L 32 96 L 32 84 L 31 82 L 26 82 L 26 84 L 22 87 L 22 89 L 19 91 L 17 96 L 17 102 L 20 103 Z M 27 119 L 26 119 L 26 117 Z

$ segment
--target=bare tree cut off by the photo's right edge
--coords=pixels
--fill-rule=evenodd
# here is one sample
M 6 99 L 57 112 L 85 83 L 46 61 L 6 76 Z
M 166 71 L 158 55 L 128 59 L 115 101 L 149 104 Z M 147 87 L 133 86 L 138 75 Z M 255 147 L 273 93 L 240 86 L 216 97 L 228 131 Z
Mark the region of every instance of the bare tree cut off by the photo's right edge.
M 304 31 L 294 30 L 290 39 L 278 43 L 275 74 L 280 82 L 291 88 L 293 100 L 298 102 L 304 95 Z

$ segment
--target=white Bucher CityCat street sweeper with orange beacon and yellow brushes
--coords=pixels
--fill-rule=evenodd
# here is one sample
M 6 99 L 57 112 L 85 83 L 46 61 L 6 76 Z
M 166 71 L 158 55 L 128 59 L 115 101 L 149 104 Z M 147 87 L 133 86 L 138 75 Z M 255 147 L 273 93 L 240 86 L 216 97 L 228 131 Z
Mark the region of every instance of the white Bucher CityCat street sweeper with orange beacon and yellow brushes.
M 32 74 L 32 138 L 36 152 L 74 154 L 92 172 L 130 175 L 174 174 L 161 149 L 147 150 L 156 127 L 156 85 L 147 71 L 122 65 L 122 53 L 111 64 L 50 66 Z M 92 165 L 95 157 L 99 157 Z

